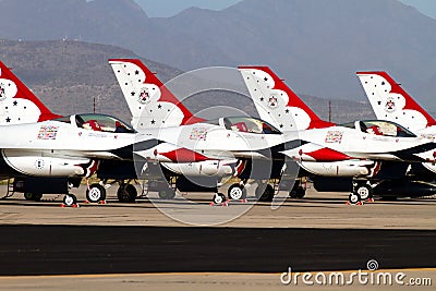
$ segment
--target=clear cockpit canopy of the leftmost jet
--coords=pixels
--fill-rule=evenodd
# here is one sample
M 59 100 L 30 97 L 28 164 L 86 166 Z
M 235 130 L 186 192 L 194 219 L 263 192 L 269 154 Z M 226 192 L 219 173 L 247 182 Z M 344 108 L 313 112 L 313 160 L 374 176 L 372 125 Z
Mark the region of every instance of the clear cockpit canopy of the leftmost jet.
M 77 128 L 111 133 L 134 133 L 135 130 L 126 124 L 124 121 L 114 117 L 98 114 L 98 113 L 84 113 L 71 117 L 63 117 L 57 119 L 61 122 L 74 122 Z

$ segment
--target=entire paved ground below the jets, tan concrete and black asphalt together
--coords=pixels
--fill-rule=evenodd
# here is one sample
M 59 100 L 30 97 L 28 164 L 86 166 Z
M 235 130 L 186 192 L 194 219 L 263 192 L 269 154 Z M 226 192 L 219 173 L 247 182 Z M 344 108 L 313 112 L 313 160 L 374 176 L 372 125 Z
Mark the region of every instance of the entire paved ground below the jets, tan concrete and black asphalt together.
M 434 198 L 350 206 L 346 193 L 311 189 L 275 205 L 249 197 L 210 206 L 207 193 L 124 204 L 114 191 L 106 205 L 78 208 L 60 207 L 56 195 L 0 201 L 0 290 L 283 290 L 277 278 L 288 267 L 356 270 L 370 259 L 435 276 Z M 83 189 L 75 193 L 84 199 Z

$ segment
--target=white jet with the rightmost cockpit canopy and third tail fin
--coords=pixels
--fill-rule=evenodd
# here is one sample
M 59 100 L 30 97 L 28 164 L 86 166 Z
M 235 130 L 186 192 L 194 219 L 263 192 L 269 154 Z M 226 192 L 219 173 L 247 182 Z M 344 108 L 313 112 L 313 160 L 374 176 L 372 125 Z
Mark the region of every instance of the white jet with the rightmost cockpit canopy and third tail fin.
M 263 120 L 284 132 L 300 130 L 302 131 L 300 136 L 305 141 L 330 145 L 338 151 L 359 158 L 336 162 L 300 163 L 308 174 L 315 177 L 363 178 L 355 179 L 353 193 L 350 195 L 351 202 L 370 197 L 373 189 L 367 179 L 380 174 L 382 168 L 388 168 L 385 165 L 380 168 L 379 162 L 387 158 L 387 156 L 380 158 L 383 155 L 379 153 L 387 149 L 385 146 L 391 148 L 388 155 L 398 158 L 392 158 L 392 161 L 408 160 L 407 156 L 411 151 L 399 144 L 422 141 L 409 130 L 387 121 L 355 121 L 342 125 L 323 121 L 269 68 L 240 66 L 239 70 Z M 375 145 L 382 141 L 385 145 Z M 426 146 L 422 149 L 426 151 Z M 365 153 L 367 159 L 362 159 L 358 151 Z M 434 159 L 434 150 L 431 149 L 426 155 L 421 156 L 423 161 Z M 383 173 L 385 172 L 384 169 Z

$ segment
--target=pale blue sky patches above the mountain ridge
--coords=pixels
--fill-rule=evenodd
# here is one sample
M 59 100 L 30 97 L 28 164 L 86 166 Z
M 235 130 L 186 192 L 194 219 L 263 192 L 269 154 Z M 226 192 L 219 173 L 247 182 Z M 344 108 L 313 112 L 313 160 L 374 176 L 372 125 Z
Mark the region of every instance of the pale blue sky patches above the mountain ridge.
M 241 0 L 135 0 L 150 17 L 169 17 L 190 8 L 221 10 Z M 422 13 L 436 19 L 436 0 L 400 0 Z

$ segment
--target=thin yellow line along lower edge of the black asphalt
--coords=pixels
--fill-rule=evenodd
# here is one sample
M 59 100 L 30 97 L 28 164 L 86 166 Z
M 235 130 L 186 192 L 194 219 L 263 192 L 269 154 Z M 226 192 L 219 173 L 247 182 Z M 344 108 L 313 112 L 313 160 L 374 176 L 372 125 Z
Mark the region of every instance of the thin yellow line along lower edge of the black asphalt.
M 356 270 L 311 270 L 310 272 L 353 272 Z M 435 268 L 405 268 L 405 269 L 377 269 L 374 272 L 393 272 L 393 271 L 436 271 Z M 305 271 L 299 271 L 301 274 Z M 241 276 L 241 275 L 274 275 L 280 276 L 282 272 L 221 272 L 221 271 L 186 271 L 186 272 L 129 272 L 129 274 L 78 274 L 78 275 L 25 275 L 25 276 L 0 276 L 0 280 L 8 280 L 8 279 L 37 279 L 37 278 L 116 278 L 116 277 L 136 277 L 136 276 L 213 276 L 213 275 L 226 275 L 226 276 Z

